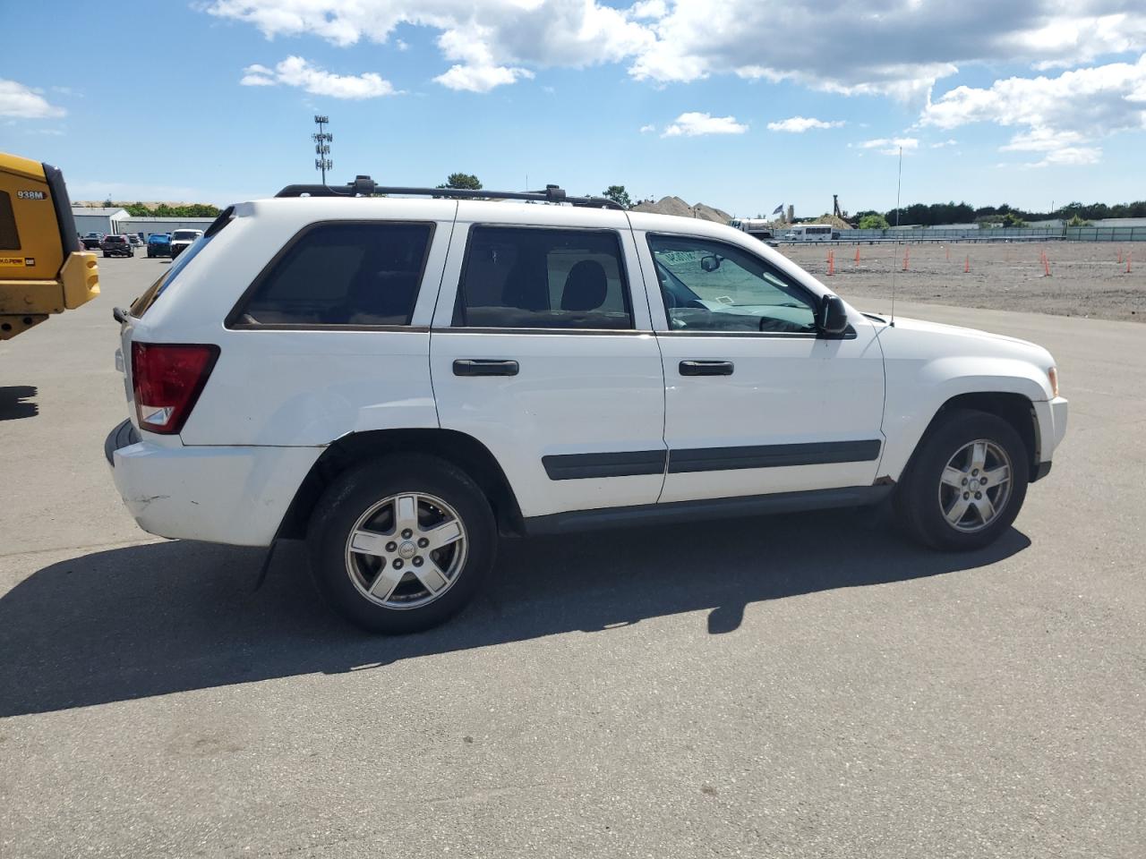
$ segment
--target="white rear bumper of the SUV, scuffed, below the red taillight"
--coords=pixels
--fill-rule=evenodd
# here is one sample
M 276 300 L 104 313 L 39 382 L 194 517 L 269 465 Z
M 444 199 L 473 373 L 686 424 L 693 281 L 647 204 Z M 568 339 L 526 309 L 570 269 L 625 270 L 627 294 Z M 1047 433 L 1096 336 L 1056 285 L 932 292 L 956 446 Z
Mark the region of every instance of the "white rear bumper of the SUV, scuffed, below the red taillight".
M 125 421 L 126 423 L 126 421 Z M 104 442 L 116 489 L 160 537 L 267 546 L 322 448 L 178 447 L 120 424 Z

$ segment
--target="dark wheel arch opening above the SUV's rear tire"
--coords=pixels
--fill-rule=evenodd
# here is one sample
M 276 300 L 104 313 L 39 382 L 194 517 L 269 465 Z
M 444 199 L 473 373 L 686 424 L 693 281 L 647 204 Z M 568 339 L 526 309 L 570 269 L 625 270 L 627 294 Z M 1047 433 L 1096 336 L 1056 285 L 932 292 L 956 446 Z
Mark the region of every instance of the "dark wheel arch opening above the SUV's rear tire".
M 371 430 L 350 433 L 329 444 L 315 460 L 291 501 L 276 538 L 300 539 L 319 498 L 346 470 L 367 459 L 400 454 L 437 456 L 464 471 L 485 492 L 504 536 L 525 533 L 521 509 L 505 473 L 489 449 L 454 430 Z

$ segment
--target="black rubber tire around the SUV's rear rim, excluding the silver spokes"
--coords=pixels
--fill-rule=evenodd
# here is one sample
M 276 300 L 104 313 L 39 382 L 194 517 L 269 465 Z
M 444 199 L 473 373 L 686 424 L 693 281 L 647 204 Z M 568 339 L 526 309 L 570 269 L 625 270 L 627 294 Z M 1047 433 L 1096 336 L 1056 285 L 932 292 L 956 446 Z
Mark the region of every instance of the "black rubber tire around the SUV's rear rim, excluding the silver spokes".
M 366 596 L 360 590 L 362 580 L 356 577 L 361 570 L 355 566 L 352 573 L 348 560 L 348 539 L 360 518 L 379 502 L 407 492 L 445 502 L 464 528 L 464 557 L 448 586 L 432 601 L 411 608 L 382 605 Z M 473 598 L 493 567 L 497 526 L 488 499 L 468 474 L 438 457 L 414 454 L 368 460 L 340 474 L 314 509 L 307 543 L 314 583 L 335 612 L 370 632 L 402 635 L 444 623 Z M 354 562 L 379 561 L 355 555 Z M 395 598 L 403 590 L 413 594 L 424 590 L 413 566 L 401 575 L 403 584 L 395 589 Z M 429 591 L 425 593 L 429 596 Z

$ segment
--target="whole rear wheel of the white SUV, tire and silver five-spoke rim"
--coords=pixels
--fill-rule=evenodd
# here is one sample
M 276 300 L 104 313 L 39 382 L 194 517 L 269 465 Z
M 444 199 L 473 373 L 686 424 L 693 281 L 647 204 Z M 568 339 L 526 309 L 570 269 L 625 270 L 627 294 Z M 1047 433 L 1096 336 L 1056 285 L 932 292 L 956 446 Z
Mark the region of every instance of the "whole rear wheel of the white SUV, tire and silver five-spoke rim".
M 418 632 L 460 612 L 493 567 L 497 528 L 481 489 L 432 456 L 369 460 L 323 492 L 307 543 L 319 592 L 370 632 Z

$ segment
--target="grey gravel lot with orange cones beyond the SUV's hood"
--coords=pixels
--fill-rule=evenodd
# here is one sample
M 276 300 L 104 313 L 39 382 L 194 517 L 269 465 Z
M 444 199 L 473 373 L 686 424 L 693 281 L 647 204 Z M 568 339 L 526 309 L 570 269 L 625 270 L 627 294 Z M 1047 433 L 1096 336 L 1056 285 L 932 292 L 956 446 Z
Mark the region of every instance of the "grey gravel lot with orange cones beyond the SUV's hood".
M 859 262 L 855 261 L 856 250 Z M 846 299 L 887 297 L 892 270 L 896 299 L 928 304 L 1025 310 L 1146 322 L 1146 245 L 1090 242 L 1027 244 L 848 244 L 835 251 L 835 274 L 827 274 L 826 245 L 780 245 L 780 252 L 832 286 Z M 910 250 L 908 270 L 904 253 Z M 1051 276 L 1044 276 L 1046 252 Z M 1122 261 L 1118 261 L 1120 251 Z M 1127 274 L 1127 254 L 1133 254 Z M 970 271 L 964 273 L 964 263 Z M 872 302 L 865 301 L 871 307 Z

